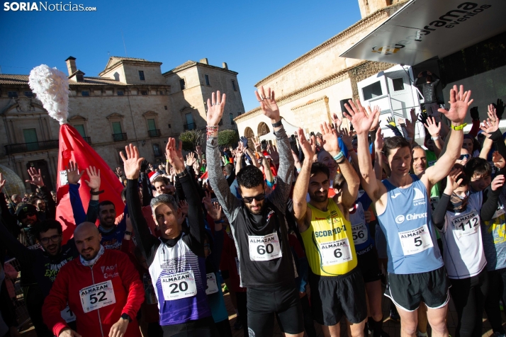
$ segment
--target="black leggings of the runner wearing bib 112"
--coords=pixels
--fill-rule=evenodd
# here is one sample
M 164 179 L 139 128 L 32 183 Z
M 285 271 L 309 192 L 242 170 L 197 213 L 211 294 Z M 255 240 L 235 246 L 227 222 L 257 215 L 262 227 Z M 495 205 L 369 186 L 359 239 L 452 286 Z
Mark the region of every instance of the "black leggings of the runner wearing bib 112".
M 456 337 L 480 337 L 483 327 L 483 306 L 488 292 L 487 270 L 472 278 L 450 279 L 451 298 L 457 311 Z

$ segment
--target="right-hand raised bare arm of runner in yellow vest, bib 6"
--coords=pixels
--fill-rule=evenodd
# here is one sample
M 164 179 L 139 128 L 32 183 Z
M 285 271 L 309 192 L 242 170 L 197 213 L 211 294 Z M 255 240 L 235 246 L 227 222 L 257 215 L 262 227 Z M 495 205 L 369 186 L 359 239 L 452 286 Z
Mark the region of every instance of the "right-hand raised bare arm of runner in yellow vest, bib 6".
M 322 132 L 323 148 L 334 158 L 339 166 L 339 170 L 341 171 L 344 180 L 346 181 L 341 193 L 341 203 L 345 212 L 347 212 L 349 208 L 354 205 L 356 195 L 359 193 L 359 176 L 356 175 L 352 164 L 349 163 L 346 156 L 344 156 L 344 153 L 341 149 L 339 149 L 336 130 L 330 127 L 327 122 L 323 122 L 323 124 L 320 124 L 320 132 Z M 337 201 L 336 198 L 337 197 L 334 197 L 334 201 Z

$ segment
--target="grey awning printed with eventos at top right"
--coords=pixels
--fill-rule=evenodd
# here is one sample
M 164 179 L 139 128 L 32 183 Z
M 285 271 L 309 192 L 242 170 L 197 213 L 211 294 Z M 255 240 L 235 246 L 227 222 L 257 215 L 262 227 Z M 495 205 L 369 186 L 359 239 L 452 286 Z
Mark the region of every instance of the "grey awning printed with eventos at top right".
M 505 0 L 411 0 L 340 57 L 415 65 L 506 30 Z

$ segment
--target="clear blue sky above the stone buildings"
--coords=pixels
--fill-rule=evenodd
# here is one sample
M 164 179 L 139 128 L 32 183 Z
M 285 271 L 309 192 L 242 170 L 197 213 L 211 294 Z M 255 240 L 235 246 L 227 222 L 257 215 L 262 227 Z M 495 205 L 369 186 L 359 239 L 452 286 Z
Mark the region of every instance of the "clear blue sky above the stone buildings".
M 258 105 L 254 84 L 360 19 L 357 0 L 98 1 L 94 12 L 4 11 L 0 8 L 2 74 L 29 74 L 40 64 L 67 72 L 77 58 L 98 76 L 111 56 L 163 62 L 162 72 L 191 59 L 238 72 L 244 108 Z M 47 4 L 60 4 L 49 0 Z

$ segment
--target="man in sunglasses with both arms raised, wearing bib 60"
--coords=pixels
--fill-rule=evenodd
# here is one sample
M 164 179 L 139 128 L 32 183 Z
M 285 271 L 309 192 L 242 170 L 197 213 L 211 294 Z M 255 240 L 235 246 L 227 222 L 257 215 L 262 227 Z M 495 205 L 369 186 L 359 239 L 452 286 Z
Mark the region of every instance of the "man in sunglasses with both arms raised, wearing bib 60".
M 255 93 L 262 112 L 272 122 L 279 151 L 276 189 L 265 195 L 262 171 L 252 165 L 237 173 L 242 201 L 230 192 L 220 167 L 218 123 L 225 109 L 225 94 L 208 100 L 207 159 L 210 185 L 227 216 L 237 246 L 240 285 L 247 288 L 249 336 L 272 336 L 278 314 L 286 336 L 303 336 L 303 313 L 296 289 L 293 256 L 288 244 L 286 202 L 293 181 L 294 161 L 281 123 L 274 91 L 261 86 Z

